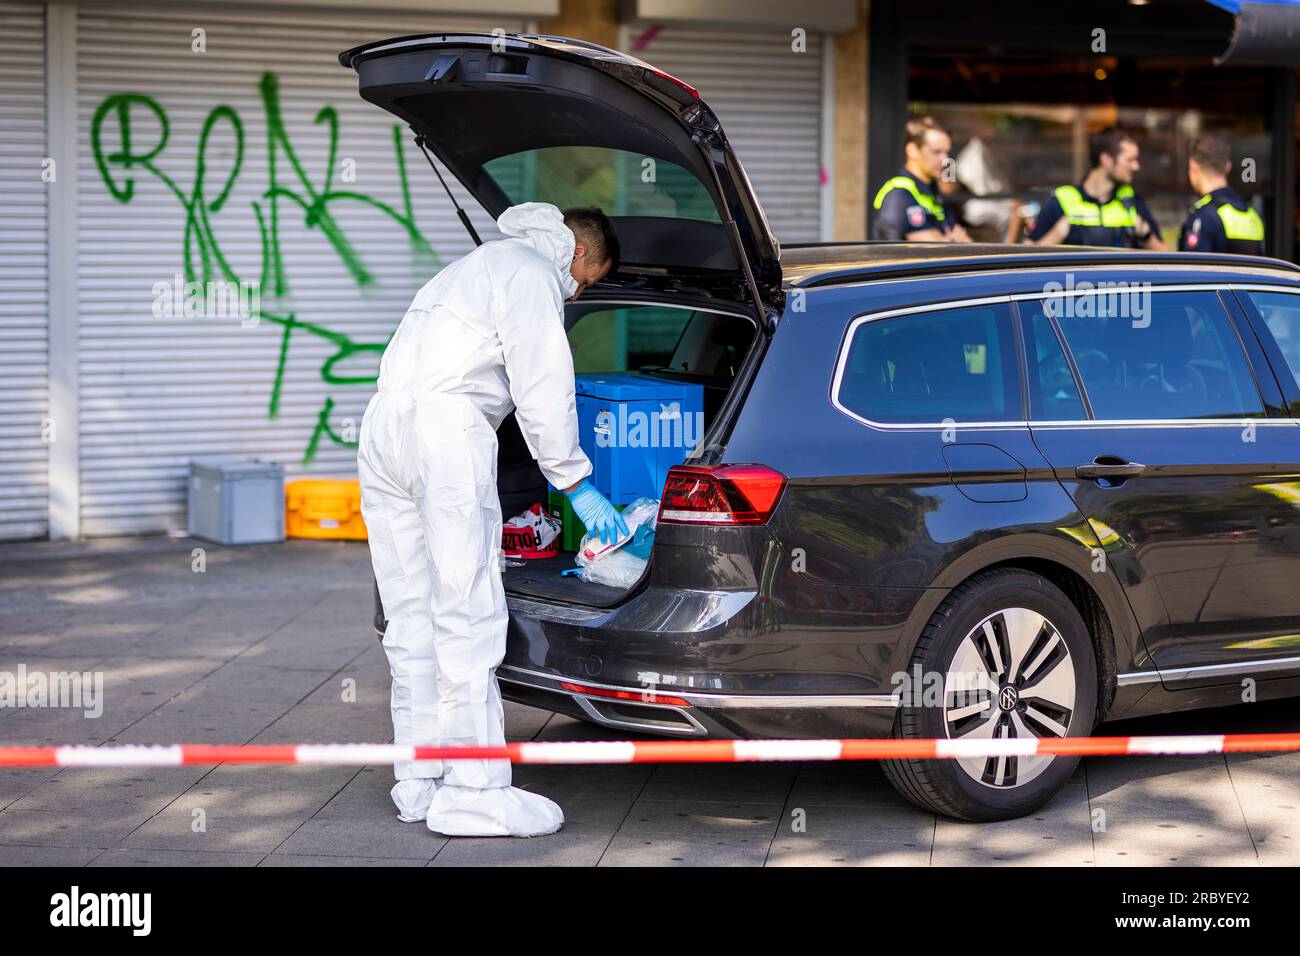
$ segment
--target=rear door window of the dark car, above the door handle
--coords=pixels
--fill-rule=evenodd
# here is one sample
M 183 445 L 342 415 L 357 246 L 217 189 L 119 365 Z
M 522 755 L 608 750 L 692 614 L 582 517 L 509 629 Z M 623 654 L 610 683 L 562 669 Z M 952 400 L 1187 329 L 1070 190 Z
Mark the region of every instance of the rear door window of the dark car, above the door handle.
M 1264 415 L 1245 352 L 1213 291 L 1134 290 L 1022 303 L 1050 310 L 1098 420 Z

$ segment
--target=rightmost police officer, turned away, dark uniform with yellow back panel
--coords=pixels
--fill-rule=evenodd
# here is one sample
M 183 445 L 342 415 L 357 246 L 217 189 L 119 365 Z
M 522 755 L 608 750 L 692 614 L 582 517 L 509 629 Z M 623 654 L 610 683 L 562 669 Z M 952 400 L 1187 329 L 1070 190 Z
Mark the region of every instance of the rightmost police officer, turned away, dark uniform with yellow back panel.
M 1232 152 L 1222 137 L 1202 135 L 1187 157 L 1187 179 L 1201 198 L 1178 237 L 1180 251 L 1264 255 L 1264 220 L 1227 185 Z

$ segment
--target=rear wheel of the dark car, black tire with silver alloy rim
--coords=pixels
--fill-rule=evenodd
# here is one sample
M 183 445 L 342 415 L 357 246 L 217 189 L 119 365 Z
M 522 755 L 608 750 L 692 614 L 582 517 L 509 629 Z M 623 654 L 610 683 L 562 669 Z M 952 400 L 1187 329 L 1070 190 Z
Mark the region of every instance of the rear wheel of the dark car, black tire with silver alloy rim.
M 1030 571 L 997 568 L 953 588 L 922 631 L 907 672 L 894 737 L 1087 736 L 1096 723 L 1097 665 L 1088 628 L 1060 588 Z M 918 806 L 994 821 L 1045 804 L 1079 758 L 881 763 L 894 788 Z

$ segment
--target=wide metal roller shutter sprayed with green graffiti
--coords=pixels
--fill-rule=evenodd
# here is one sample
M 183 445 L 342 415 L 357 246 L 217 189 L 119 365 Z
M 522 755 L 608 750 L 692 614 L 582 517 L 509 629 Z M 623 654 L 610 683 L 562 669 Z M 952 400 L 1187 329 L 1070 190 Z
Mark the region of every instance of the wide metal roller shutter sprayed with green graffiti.
M 199 455 L 256 455 L 289 476 L 355 475 L 355 449 L 341 441 L 355 440 L 380 352 L 413 291 L 471 243 L 410 131 L 395 144 L 393 118 L 360 100 L 335 57 L 400 34 L 521 26 L 81 8 L 82 533 L 185 527 L 185 476 Z M 196 27 L 205 52 L 191 49 Z M 337 113 L 333 151 L 322 108 Z M 402 164 L 417 235 L 396 220 L 407 208 Z M 478 207 L 467 208 L 490 233 Z M 281 321 L 155 315 L 186 259 L 198 278 L 205 256 L 214 280 L 222 263 L 263 280 L 261 310 Z

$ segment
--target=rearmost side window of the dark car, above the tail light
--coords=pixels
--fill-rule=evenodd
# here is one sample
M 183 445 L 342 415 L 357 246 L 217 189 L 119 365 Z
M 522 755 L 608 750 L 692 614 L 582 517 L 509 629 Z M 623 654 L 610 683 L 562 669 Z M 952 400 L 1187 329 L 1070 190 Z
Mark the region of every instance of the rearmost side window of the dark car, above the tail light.
M 857 320 L 836 399 L 881 424 L 1023 418 L 1006 303 Z

